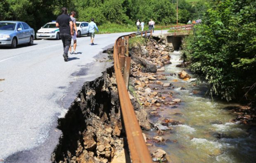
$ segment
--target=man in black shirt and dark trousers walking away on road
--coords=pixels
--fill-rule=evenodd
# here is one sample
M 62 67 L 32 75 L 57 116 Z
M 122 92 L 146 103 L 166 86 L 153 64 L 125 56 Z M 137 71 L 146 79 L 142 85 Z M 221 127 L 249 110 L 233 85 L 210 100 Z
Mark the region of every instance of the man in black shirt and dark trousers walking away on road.
M 62 14 L 57 17 L 56 27 L 59 28 L 59 35 L 64 47 L 64 61 L 68 61 L 68 52 L 71 45 L 71 35 L 73 35 L 73 22 L 68 15 L 66 7 L 62 7 Z

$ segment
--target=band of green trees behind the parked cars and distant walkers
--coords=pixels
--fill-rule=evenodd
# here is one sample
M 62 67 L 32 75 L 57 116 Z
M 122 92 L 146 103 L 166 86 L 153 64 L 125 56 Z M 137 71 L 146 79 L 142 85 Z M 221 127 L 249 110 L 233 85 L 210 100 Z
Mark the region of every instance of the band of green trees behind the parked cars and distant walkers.
M 201 6 L 192 6 L 186 0 L 178 2 L 180 23 L 198 18 Z M 156 24 L 176 22 L 176 0 L 0 0 L 0 20 L 25 21 L 37 30 L 55 20 L 63 6 L 69 12 L 76 11 L 79 21 L 90 21 L 93 17 L 99 25 L 134 25 L 137 19 L 153 19 Z

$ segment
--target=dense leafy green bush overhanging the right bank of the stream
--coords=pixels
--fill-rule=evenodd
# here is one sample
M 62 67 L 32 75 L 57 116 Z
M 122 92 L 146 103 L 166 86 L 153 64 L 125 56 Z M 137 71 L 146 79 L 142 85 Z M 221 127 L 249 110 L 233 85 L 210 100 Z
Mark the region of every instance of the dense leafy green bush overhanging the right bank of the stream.
M 191 70 L 226 100 L 256 95 L 256 1 L 216 0 L 185 39 Z

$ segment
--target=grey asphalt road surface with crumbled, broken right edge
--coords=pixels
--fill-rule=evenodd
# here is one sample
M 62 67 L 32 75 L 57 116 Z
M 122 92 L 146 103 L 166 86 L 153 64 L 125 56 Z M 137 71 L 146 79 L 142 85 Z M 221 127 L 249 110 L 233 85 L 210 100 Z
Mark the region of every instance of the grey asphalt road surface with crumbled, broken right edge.
M 33 46 L 0 47 L 0 162 L 46 163 L 59 141 L 57 119 L 63 117 L 83 82 L 109 66 L 104 49 L 120 35 L 78 38 L 64 62 L 61 40 L 35 40 Z M 73 44 L 73 42 L 72 42 Z

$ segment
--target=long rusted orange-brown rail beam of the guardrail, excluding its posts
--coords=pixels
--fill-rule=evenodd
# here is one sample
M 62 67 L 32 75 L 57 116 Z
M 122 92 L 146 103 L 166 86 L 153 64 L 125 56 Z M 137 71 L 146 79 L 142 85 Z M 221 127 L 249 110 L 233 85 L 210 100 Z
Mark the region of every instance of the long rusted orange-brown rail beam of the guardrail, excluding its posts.
M 121 65 L 120 65 L 119 54 L 118 54 L 118 44 L 120 39 L 121 37 L 119 37 L 116 40 L 114 45 L 114 68 L 116 73 L 116 83 L 118 87 L 121 112 L 122 112 L 125 130 L 126 130 L 126 136 L 128 140 L 128 146 L 130 149 L 131 159 L 133 163 L 152 163 L 152 158 L 147 149 L 147 145 L 145 144 L 145 140 L 142 136 L 140 125 L 137 121 L 137 118 L 133 109 L 133 105 L 128 95 L 128 91 L 127 91 L 128 84 L 125 83 L 121 73 Z M 125 63 L 126 68 L 124 69 L 124 73 L 127 75 L 130 73 L 130 68 L 128 70 L 128 67 L 130 67 L 130 57 L 129 56 L 123 56 L 123 57 L 125 57 L 125 62 L 126 62 Z M 126 79 L 126 82 L 127 81 L 128 80 Z

